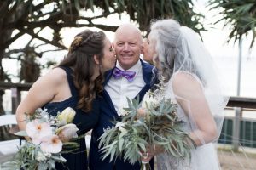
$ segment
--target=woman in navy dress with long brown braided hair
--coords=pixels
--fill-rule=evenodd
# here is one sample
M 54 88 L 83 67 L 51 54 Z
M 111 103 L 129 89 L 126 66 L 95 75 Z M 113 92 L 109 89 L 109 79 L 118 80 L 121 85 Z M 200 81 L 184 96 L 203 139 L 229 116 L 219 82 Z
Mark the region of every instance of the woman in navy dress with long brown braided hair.
M 112 44 L 102 31 L 80 32 L 60 65 L 40 77 L 20 102 L 16 111 L 20 130 L 26 129 L 25 113 L 46 108 L 50 115 L 56 116 L 58 111 L 71 107 L 76 111 L 73 123 L 79 128 L 78 134 L 88 132 L 99 117 L 97 94 L 102 91 L 103 73 L 112 69 L 115 62 Z M 79 144 L 74 153 L 62 154 L 67 162 L 56 163 L 56 169 L 87 169 L 84 138 Z

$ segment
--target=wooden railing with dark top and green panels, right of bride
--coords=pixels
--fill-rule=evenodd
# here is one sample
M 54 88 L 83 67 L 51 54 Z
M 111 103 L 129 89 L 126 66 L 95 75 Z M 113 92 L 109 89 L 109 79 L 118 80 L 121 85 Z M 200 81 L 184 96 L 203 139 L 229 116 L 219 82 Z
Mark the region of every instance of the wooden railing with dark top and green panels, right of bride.
M 220 136 L 219 142 L 232 144 L 233 150 L 238 150 L 240 145 L 255 148 L 256 133 L 254 129 L 256 128 L 256 121 L 255 119 L 243 118 L 243 111 L 253 111 L 253 114 L 256 114 L 256 99 L 230 97 L 227 110 L 230 109 L 235 110 L 235 116 L 225 117 L 223 134 Z M 230 126 L 232 127 L 231 130 L 229 129 Z

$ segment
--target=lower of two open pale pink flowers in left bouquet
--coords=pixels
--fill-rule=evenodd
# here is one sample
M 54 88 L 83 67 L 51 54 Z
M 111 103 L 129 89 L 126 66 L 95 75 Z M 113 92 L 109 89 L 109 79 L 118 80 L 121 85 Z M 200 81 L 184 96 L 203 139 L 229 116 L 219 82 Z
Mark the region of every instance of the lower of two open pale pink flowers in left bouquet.
M 59 153 L 62 150 L 62 142 L 57 135 L 45 136 L 40 144 L 41 150 L 48 153 Z

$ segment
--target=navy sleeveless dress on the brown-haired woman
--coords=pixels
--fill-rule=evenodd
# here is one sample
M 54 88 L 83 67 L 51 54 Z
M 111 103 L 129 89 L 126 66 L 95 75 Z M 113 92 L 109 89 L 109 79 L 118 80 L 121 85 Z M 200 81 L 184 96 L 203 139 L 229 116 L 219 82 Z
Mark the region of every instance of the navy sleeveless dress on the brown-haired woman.
M 58 111 L 63 111 L 67 107 L 73 108 L 76 111 L 74 116 L 73 123 L 79 128 L 78 135 L 83 135 L 90 131 L 93 128 L 99 118 L 99 99 L 94 99 L 92 104 L 92 110 L 90 112 L 84 112 L 80 109 L 77 109 L 78 91 L 73 84 L 73 71 L 69 67 L 61 66 L 61 69 L 66 71 L 67 81 L 69 88 L 71 90 L 72 96 L 61 102 L 51 102 L 44 105 L 44 108 L 47 109 L 50 115 L 56 116 Z M 86 170 L 88 169 L 87 162 L 87 151 L 85 145 L 85 139 L 76 140 L 80 144 L 79 150 L 75 150 L 73 153 L 61 154 L 67 161 L 63 164 L 55 162 L 55 169 L 57 170 Z

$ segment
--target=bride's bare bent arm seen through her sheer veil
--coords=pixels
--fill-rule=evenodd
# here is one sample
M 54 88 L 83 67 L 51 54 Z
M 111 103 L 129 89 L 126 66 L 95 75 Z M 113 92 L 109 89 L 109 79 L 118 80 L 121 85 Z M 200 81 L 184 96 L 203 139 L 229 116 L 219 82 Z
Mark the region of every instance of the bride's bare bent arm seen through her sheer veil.
M 216 123 L 210 111 L 201 82 L 188 73 L 177 73 L 172 81 L 177 103 L 189 117 L 192 132 L 190 138 L 197 146 L 217 139 Z

